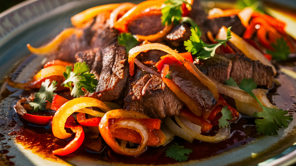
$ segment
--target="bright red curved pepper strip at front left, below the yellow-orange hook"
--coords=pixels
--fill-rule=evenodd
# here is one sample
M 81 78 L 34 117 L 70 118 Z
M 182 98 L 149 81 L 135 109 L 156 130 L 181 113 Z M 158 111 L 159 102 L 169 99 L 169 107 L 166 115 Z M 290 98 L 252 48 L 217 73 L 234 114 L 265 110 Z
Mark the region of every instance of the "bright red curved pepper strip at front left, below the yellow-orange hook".
M 75 150 L 77 150 L 80 147 L 80 145 L 82 144 L 82 142 L 84 140 L 83 128 L 79 125 L 76 125 L 75 119 L 73 116 L 69 116 L 67 118 L 67 121 L 65 123 L 65 127 L 71 128 L 71 130 L 74 133 L 76 133 L 75 138 L 69 144 L 67 144 L 66 147 L 52 151 L 52 153 L 55 155 L 64 156 L 64 155 L 74 152 Z

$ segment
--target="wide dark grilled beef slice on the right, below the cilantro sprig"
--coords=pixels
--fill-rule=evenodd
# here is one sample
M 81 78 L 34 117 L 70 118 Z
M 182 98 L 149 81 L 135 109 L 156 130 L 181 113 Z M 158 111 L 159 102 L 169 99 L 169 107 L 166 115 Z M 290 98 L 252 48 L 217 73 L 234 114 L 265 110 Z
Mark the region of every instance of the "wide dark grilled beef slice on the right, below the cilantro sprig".
M 237 84 L 241 83 L 243 78 L 253 78 L 259 86 L 273 86 L 274 72 L 270 66 L 238 54 L 216 54 L 207 60 L 196 59 L 194 64 L 200 71 L 221 84 L 232 77 Z

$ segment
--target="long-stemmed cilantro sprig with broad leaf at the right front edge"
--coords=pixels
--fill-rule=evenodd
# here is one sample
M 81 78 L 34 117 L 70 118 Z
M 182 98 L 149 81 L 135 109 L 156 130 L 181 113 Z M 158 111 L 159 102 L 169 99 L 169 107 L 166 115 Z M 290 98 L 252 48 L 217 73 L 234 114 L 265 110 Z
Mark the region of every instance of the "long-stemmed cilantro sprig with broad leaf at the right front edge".
M 278 108 L 268 108 L 261 104 L 258 98 L 252 92 L 253 89 L 257 88 L 257 83 L 253 81 L 253 79 L 243 79 L 239 84 L 239 88 L 248 92 L 252 97 L 254 97 L 257 102 L 263 108 L 263 112 L 255 112 L 253 114 L 254 117 L 260 118 L 256 119 L 255 123 L 258 133 L 262 133 L 265 135 L 275 134 L 277 135 L 277 131 L 279 127 L 288 127 L 289 121 L 292 121 L 292 115 L 287 115 L 288 111 L 283 111 L 282 109 L 278 110 Z M 286 116 L 287 115 L 287 116 Z M 263 118 L 263 119 L 262 119 Z

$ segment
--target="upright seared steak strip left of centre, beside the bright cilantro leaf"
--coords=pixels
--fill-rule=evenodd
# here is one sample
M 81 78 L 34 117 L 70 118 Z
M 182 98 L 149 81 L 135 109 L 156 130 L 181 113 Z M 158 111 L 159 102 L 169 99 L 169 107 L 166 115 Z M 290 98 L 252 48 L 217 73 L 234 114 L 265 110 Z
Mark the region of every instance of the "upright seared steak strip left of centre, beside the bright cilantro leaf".
M 85 96 L 108 102 L 115 100 L 122 94 L 128 79 L 125 48 L 116 42 L 104 48 L 102 54 L 96 52 L 95 55 L 91 73 L 95 73 L 98 85 L 93 93 L 87 92 Z M 102 55 L 102 60 L 99 55 Z

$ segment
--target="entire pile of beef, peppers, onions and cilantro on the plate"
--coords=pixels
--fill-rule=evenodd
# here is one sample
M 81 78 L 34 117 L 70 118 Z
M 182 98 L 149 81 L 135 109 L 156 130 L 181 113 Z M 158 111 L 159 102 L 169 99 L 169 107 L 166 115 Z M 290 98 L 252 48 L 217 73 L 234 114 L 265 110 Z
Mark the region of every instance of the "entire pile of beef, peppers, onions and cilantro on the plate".
M 48 44 L 27 45 L 47 57 L 31 81 L 7 78 L 30 93 L 14 106 L 21 118 L 73 138 L 54 155 L 75 154 L 91 140 L 90 152 L 102 153 L 105 144 L 137 156 L 165 146 L 162 153 L 184 162 L 192 149 L 176 140 L 226 140 L 241 116 L 254 117 L 265 135 L 293 120 L 266 89 L 277 74 L 271 61 L 295 53 L 295 40 L 262 11 L 207 14 L 199 0 L 147 0 L 96 6 L 71 21 Z

